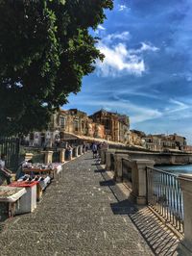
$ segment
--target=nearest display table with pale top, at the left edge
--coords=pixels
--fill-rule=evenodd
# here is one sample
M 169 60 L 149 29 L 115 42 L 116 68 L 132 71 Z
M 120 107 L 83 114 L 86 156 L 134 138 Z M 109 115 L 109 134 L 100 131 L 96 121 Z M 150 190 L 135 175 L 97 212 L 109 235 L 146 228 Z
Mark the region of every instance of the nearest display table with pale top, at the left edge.
M 5 212 L 1 212 L 1 215 L 8 215 L 9 218 L 14 216 L 15 208 L 19 208 L 19 199 L 26 193 L 25 188 L 13 188 L 9 186 L 0 186 L 0 204 L 3 209 L 3 204 L 6 204 Z M 17 206 L 17 207 L 15 207 Z M 0 216 L 1 216 L 0 215 Z

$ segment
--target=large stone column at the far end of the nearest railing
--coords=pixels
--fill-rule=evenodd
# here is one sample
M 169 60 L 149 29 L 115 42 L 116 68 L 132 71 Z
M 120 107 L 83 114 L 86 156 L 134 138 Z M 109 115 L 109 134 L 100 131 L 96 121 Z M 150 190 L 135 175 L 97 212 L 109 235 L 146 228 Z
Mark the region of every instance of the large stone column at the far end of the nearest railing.
M 132 196 L 137 204 L 147 203 L 147 179 L 146 167 L 154 167 L 155 162 L 151 160 L 132 160 Z

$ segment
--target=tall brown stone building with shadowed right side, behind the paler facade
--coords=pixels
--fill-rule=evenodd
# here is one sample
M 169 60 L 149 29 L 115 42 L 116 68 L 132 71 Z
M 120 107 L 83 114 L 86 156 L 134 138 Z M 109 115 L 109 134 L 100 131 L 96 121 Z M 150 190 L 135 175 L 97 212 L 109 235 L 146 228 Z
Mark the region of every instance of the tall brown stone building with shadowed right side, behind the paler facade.
M 105 126 L 106 140 L 127 143 L 130 121 L 127 115 L 101 110 L 89 116 L 94 122 Z

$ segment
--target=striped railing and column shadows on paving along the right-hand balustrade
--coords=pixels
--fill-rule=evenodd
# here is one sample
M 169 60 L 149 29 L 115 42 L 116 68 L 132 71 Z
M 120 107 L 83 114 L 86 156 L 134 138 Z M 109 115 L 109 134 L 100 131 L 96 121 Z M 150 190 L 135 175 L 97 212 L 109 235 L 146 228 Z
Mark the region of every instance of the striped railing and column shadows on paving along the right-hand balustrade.
M 132 223 L 140 232 L 146 243 L 149 244 L 155 255 L 178 255 L 176 249 L 179 244 L 179 239 L 174 233 L 168 229 L 148 207 L 137 209 L 130 198 L 125 199 L 125 194 L 122 195 L 120 189 L 115 186 L 114 181 L 108 177 L 106 170 L 101 171 L 100 169 L 98 172 L 101 172 L 104 179 L 100 181 L 100 185 L 108 186 L 117 200 L 117 202 L 110 204 L 113 214 L 125 215 L 131 218 Z

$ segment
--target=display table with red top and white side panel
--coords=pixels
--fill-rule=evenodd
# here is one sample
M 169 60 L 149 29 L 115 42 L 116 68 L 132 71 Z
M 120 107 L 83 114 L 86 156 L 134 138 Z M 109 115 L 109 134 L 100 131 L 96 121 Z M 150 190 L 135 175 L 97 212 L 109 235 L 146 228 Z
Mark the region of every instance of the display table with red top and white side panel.
M 10 184 L 10 187 L 25 188 L 26 193 L 20 199 L 20 207 L 15 211 L 15 214 L 31 213 L 36 209 L 36 185 L 38 181 L 26 182 L 15 181 Z

